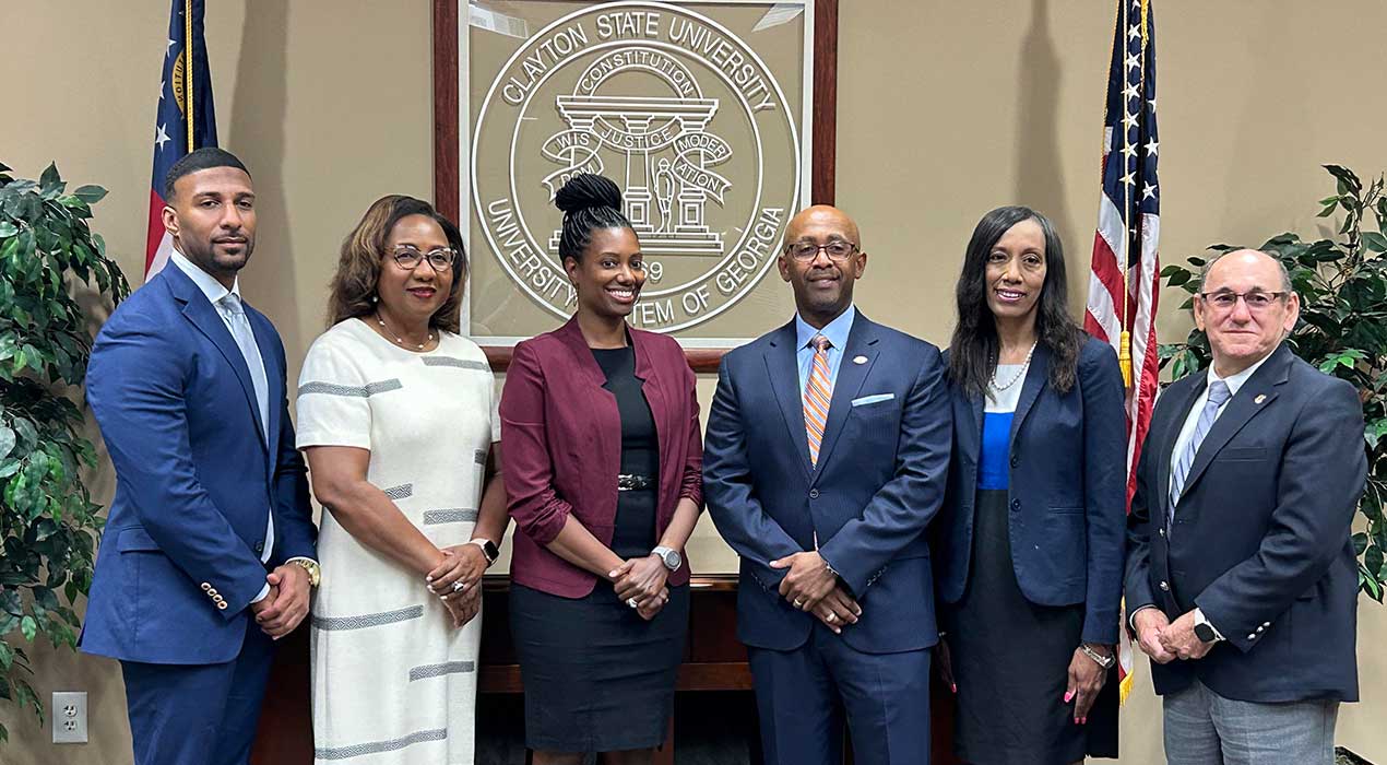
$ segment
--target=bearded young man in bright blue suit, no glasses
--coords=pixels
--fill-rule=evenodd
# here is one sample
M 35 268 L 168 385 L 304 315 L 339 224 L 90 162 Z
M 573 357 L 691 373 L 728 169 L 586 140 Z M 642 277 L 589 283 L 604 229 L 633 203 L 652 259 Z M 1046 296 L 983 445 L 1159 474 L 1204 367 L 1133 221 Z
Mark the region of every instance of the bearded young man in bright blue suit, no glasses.
M 255 193 L 221 149 L 165 180 L 169 265 L 117 308 L 87 401 L 117 489 L 82 648 L 121 659 L 139 765 L 243 764 L 272 640 L 318 580 L 284 346 L 240 299 Z

